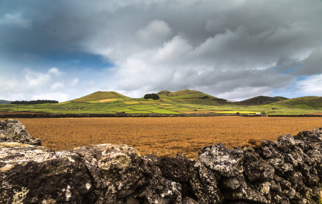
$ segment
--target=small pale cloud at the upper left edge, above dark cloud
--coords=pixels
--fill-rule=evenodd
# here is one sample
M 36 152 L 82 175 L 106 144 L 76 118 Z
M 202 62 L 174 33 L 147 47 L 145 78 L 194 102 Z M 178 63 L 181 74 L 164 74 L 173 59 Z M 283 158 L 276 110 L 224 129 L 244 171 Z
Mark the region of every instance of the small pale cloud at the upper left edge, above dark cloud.
M 32 20 L 25 18 L 19 13 L 6 13 L 2 17 L 0 17 L 0 25 L 11 25 L 15 27 L 21 27 L 24 29 L 31 29 Z

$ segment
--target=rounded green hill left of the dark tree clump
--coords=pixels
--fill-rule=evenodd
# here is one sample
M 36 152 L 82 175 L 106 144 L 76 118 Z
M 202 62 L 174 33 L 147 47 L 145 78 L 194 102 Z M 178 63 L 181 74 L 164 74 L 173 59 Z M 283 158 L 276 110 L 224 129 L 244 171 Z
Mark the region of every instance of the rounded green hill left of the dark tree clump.
M 124 99 L 129 98 L 125 95 L 122 95 L 115 91 L 97 91 L 89 95 L 76 98 L 71 100 L 71 102 L 84 102 L 84 101 L 94 101 L 94 100 L 103 100 L 103 99 Z

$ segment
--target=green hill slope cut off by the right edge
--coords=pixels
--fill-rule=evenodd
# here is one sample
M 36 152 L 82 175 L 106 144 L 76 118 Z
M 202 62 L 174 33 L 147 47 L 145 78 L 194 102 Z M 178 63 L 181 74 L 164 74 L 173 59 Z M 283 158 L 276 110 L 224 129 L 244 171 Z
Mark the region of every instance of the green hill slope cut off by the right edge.
M 272 105 L 284 105 L 290 108 L 300 109 L 322 109 L 322 97 L 319 96 L 304 96 L 282 100 L 273 103 Z

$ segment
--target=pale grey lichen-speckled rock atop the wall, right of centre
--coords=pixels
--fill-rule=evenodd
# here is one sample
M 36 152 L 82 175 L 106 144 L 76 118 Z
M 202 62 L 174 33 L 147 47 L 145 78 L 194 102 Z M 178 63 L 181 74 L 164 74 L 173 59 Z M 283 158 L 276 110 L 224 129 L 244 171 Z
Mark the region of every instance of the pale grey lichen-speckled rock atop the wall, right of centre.
M 236 176 L 244 171 L 243 159 L 242 150 L 225 148 L 221 143 L 203 147 L 198 157 L 206 167 L 226 177 Z

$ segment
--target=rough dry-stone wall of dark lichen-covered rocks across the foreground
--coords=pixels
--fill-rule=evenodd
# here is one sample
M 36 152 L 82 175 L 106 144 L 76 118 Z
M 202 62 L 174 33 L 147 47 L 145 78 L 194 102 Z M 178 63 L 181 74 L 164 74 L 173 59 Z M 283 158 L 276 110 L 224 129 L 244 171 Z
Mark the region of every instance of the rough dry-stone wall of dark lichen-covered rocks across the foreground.
M 0 141 L 0 203 L 314 203 L 322 193 L 322 128 L 218 143 L 197 160 L 114 144 L 53 151 L 15 120 L 0 122 Z

